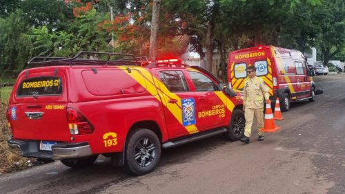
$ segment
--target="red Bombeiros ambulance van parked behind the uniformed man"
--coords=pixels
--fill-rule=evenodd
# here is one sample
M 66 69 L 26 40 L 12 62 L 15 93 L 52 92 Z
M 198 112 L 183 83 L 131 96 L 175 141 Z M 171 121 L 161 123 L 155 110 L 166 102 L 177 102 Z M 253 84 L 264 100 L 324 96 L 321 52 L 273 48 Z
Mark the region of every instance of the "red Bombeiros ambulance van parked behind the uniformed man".
M 275 103 L 279 98 L 282 111 L 290 109 L 291 101 L 315 101 L 315 83 L 302 52 L 271 45 L 230 52 L 228 84 L 231 88 L 243 89 L 250 65 L 255 65 L 256 76 L 268 86 L 270 100 Z

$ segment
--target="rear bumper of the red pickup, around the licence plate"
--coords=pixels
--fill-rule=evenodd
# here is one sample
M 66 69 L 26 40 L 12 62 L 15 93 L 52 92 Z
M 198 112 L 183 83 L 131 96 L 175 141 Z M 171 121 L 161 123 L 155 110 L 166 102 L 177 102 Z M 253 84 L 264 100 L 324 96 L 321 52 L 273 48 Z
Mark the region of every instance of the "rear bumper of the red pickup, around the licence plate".
M 41 151 L 39 140 L 8 140 L 8 147 L 13 153 L 32 158 L 46 158 L 51 160 L 63 160 L 69 158 L 81 158 L 92 155 L 88 142 L 75 144 L 58 142 L 52 146 L 52 151 Z

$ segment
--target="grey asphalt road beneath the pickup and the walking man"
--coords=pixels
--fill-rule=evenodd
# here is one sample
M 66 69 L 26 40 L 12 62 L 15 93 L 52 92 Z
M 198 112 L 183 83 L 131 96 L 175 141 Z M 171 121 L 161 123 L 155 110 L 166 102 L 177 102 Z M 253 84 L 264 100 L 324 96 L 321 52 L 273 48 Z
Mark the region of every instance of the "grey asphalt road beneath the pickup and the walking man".
M 345 193 L 345 75 L 315 82 L 324 94 L 293 103 L 263 142 L 215 136 L 166 149 L 140 177 L 107 158 L 79 170 L 54 162 L 0 175 L 0 193 Z

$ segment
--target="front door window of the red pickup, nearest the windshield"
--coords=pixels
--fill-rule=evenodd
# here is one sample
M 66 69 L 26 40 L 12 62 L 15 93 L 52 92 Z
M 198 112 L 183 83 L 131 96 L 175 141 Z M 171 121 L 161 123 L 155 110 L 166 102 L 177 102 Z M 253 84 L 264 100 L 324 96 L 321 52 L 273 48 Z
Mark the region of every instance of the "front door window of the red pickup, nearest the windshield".
M 215 91 L 217 85 L 210 78 L 199 72 L 189 72 L 190 78 L 192 78 L 195 91 Z

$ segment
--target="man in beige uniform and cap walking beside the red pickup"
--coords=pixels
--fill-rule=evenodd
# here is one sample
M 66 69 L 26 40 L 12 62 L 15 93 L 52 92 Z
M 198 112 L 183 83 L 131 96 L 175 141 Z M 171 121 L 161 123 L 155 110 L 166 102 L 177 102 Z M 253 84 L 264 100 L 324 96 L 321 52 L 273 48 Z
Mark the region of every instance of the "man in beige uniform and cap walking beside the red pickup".
M 248 79 L 244 82 L 243 110 L 246 118 L 246 127 L 244 128 L 244 137 L 242 142 L 249 143 L 254 118 L 257 119 L 257 131 L 259 141 L 264 140 L 264 132 L 260 131 L 264 123 L 264 98 L 269 100 L 268 87 L 262 78 L 255 76 L 256 67 L 250 65 L 247 68 Z

